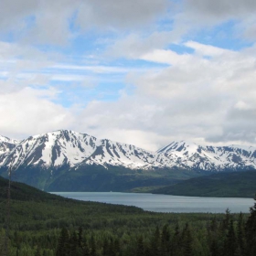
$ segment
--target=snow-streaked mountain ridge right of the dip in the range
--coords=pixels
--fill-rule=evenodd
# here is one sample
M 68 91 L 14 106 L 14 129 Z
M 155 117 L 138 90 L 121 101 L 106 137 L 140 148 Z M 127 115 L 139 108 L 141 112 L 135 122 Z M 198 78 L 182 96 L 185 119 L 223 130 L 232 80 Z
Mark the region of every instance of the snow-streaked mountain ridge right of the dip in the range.
M 256 148 L 252 146 L 203 146 L 173 142 L 157 151 L 180 168 L 221 171 L 256 169 Z

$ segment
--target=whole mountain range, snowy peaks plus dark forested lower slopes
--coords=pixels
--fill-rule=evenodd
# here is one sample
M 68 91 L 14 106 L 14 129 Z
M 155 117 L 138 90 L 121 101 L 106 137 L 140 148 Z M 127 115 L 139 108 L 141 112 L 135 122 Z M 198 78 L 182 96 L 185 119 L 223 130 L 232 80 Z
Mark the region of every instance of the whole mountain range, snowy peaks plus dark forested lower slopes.
M 59 130 L 22 141 L 0 136 L 0 175 L 7 176 L 8 169 L 17 180 L 41 189 L 56 191 L 69 187 L 74 190 L 77 186 L 76 189 L 95 190 L 100 182 L 100 190 L 112 190 L 118 182 L 120 186 L 127 185 L 127 179 L 131 182 L 130 187 L 137 186 L 138 176 L 144 180 L 145 186 L 159 186 L 167 181 L 186 179 L 187 175 L 254 170 L 256 148 L 205 146 L 181 141 L 154 152 L 132 144 L 97 139 L 86 133 Z M 124 180 L 122 176 L 125 176 Z M 112 183 L 107 181 L 108 178 Z M 90 188 L 93 180 L 96 180 L 95 186 Z M 82 181 L 88 185 L 84 187 Z

